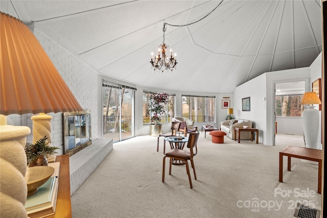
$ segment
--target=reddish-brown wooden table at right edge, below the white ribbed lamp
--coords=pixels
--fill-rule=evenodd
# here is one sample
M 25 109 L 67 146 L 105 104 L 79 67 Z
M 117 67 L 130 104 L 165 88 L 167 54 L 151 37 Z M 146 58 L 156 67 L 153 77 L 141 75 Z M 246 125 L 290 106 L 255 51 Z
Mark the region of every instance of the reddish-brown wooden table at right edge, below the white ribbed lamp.
M 291 157 L 318 162 L 318 193 L 321 193 L 322 151 L 296 146 L 288 146 L 279 152 L 279 182 L 283 182 L 283 156 L 287 156 L 287 170 L 291 171 Z

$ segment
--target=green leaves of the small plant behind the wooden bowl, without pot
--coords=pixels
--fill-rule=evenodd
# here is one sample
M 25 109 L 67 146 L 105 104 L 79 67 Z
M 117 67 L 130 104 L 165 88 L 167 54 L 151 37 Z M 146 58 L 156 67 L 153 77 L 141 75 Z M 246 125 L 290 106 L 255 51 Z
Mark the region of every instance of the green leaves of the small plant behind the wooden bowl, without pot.
M 48 146 L 49 142 L 46 142 L 46 139 L 48 139 L 48 137 L 44 136 L 43 138 L 39 139 L 35 144 L 29 142 L 26 143 L 25 153 L 27 157 L 27 164 L 34 162 L 38 156 L 53 155 L 58 153 L 56 152 L 56 150 L 59 148 Z

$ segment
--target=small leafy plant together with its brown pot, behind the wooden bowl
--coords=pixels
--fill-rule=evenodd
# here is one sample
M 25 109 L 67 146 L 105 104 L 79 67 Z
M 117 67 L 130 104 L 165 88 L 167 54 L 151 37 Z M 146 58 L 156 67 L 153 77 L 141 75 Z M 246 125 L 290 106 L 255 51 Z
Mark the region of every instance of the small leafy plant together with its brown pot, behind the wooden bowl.
M 46 141 L 48 139 L 46 136 L 39 139 L 35 144 L 26 143 L 25 153 L 27 157 L 27 165 L 31 166 L 48 166 L 47 155 L 53 155 L 58 152 L 55 150 L 59 149 L 57 147 L 50 147 Z

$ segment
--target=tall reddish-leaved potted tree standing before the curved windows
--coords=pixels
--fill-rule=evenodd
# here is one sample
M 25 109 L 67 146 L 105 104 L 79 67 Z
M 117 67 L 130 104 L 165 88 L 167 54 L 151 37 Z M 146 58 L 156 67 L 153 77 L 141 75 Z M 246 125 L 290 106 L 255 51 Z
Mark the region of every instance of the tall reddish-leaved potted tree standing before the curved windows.
M 148 110 L 151 114 L 150 119 L 150 135 L 158 136 L 162 133 L 162 127 L 160 124 L 161 117 L 165 110 L 164 105 L 169 102 L 169 95 L 167 93 L 151 93 L 150 104 Z

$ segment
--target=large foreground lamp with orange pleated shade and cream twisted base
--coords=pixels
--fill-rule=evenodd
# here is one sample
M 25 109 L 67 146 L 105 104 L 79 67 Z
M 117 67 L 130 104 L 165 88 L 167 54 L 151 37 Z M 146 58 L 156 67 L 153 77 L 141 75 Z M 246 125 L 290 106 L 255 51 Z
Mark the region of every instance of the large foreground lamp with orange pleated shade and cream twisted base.
M 31 130 L 7 125 L 5 115 L 83 109 L 30 29 L 0 15 L 0 211 L 2 217 L 28 217 L 24 148 Z

